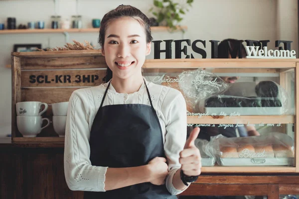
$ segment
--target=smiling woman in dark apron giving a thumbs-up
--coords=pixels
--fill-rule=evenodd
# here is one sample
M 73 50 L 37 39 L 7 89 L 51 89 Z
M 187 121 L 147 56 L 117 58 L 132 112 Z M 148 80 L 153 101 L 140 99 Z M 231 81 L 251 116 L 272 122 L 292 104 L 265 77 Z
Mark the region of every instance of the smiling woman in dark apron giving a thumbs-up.
M 85 191 L 85 199 L 172 199 L 200 174 L 199 129 L 186 140 L 183 96 L 142 77 L 149 24 L 129 5 L 105 14 L 99 43 L 106 83 L 70 98 L 65 179 L 71 190 Z

